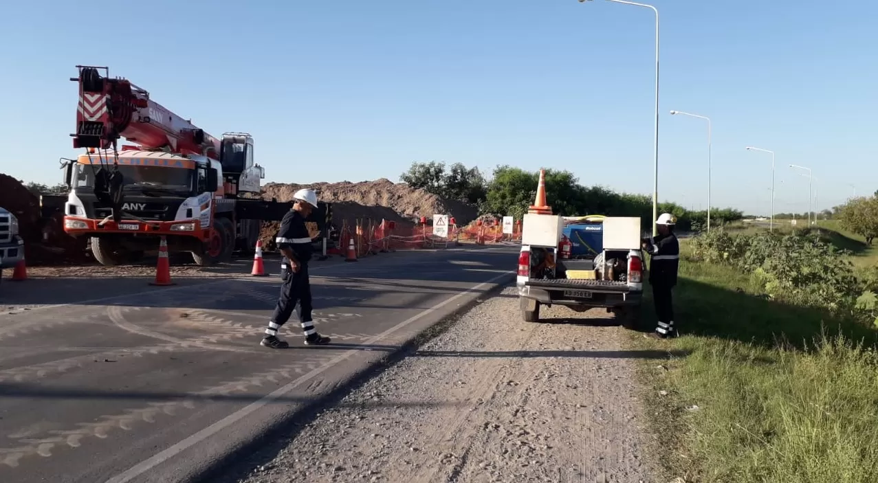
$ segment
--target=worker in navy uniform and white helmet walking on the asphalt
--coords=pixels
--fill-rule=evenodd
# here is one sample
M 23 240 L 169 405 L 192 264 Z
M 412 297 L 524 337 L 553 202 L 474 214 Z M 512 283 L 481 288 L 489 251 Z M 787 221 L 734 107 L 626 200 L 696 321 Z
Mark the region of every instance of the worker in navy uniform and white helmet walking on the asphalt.
M 311 259 L 313 245 L 310 233 L 305 224 L 311 210 L 317 208 L 317 194 L 313 189 L 299 189 L 293 195 L 294 204 L 280 222 L 277 232 L 277 248 L 284 253 L 281 262 L 281 277 L 284 284 L 280 289 L 280 298 L 271 316 L 268 329 L 265 330 L 262 345 L 272 349 L 289 347 L 284 340 L 277 337 L 277 330 L 292 316 L 292 310 L 299 303 L 299 322 L 305 331 L 305 344 L 328 344 L 329 337 L 323 337 L 314 329 L 311 318 L 311 281 L 308 280 L 308 261 Z

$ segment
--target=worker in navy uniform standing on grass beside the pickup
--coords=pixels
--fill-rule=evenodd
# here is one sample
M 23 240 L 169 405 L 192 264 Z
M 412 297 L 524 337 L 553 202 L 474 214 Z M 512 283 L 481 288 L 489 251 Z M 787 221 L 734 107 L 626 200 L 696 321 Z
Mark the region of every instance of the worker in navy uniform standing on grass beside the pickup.
M 650 285 L 652 300 L 656 307 L 659 324 L 650 337 L 676 337 L 677 330 L 673 326 L 672 289 L 677 285 L 677 269 L 680 266 L 680 241 L 673 234 L 673 225 L 677 218 L 670 213 L 662 213 L 656 220 L 659 234 L 644 240 L 643 248 L 651 255 Z

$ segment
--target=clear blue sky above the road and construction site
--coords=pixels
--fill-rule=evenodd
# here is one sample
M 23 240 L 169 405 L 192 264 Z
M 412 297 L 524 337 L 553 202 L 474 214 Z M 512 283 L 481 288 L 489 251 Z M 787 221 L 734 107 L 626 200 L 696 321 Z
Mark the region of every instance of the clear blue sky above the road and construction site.
M 653 0 L 659 198 L 806 210 L 878 188 L 878 3 Z M 215 136 L 248 131 L 266 181 L 363 181 L 414 160 L 569 169 L 651 193 L 654 16 L 595 0 L 14 2 L 0 18 L 0 171 L 54 183 L 76 154 L 76 64 L 109 66 Z M 106 10 L 110 9 L 110 10 Z

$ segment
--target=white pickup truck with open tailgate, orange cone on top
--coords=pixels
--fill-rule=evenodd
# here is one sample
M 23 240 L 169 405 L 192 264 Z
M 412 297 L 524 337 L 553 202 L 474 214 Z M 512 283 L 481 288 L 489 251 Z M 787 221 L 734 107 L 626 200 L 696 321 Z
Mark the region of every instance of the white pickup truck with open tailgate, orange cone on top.
M 645 272 L 640 218 L 598 218 L 601 245 L 572 251 L 567 244 L 580 217 L 524 216 L 517 287 L 526 322 L 539 322 L 541 306 L 558 304 L 578 312 L 606 309 L 623 326 L 636 325 Z

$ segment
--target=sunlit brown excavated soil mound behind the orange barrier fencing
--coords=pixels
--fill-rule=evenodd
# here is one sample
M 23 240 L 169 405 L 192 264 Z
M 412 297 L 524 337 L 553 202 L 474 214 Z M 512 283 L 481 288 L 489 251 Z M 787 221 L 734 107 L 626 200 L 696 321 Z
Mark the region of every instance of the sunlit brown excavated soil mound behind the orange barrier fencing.
M 401 230 L 414 226 L 420 217 L 432 220 L 433 215 L 448 214 L 456 218 L 458 225 L 462 225 L 471 222 L 479 214 L 478 208 L 470 204 L 447 200 L 386 178 L 307 185 L 272 182 L 263 187 L 263 199 L 275 198 L 278 202 L 289 202 L 301 188 L 312 188 L 319 194 L 321 202 L 333 203 L 333 224 L 339 230 L 343 222 L 354 227 L 357 220 L 371 218 L 375 223 L 380 223 L 382 219 L 396 222 L 401 233 Z M 277 223 L 263 224 L 260 238 L 263 246 L 269 247 L 267 249 L 273 246 L 278 228 Z

